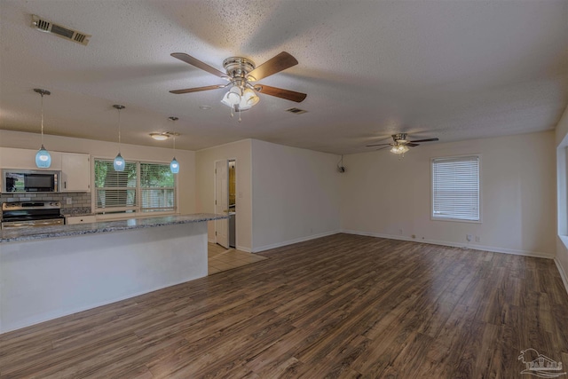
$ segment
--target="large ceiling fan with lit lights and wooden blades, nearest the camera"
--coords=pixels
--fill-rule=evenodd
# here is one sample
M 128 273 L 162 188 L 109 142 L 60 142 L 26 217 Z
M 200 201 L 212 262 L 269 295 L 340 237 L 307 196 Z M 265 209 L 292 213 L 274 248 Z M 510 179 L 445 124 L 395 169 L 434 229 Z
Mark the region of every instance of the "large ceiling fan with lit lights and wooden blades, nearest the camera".
M 256 92 L 266 95 L 275 96 L 281 99 L 296 101 L 296 103 L 304 101 L 305 93 L 284 90 L 281 88 L 271 87 L 261 83 L 254 83 L 273 74 L 277 74 L 289 67 L 296 66 L 298 61 L 288 52 L 282 51 L 280 54 L 268 59 L 262 65 L 256 67 L 255 62 L 242 57 L 231 57 L 223 61 L 225 73 L 210 67 L 208 64 L 201 62 L 199 59 L 193 58 L 184 52 L 174 52 L 172 57 L 183 60 L 194 67 L 201 68 L 209 74 L 216 75 L 229 83 L 208 85 L 205 87 L 187 88 L 185 90 L 170 91 L 171 93 L 181 94 L 198 91 L 217 90 L 219 88 L 230 87 L 225 93 L 221 102 L 227 107 L 231 107 L 231 115 L 233 110 L 236 112 L 250 109 L 258 103 Z M 239 120 L 241 121 L 241 120 Z

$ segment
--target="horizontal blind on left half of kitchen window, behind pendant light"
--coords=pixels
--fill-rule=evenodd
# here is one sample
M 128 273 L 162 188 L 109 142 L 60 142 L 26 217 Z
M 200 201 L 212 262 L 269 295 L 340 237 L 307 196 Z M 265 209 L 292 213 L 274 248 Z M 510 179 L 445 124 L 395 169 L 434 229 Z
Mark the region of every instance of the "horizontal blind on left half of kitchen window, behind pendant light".
M 97 209 L 127 211 L 138 205 L 136 162 L 126 162 L 123 171 L 115 171 L 113 161 L 95 161 Z

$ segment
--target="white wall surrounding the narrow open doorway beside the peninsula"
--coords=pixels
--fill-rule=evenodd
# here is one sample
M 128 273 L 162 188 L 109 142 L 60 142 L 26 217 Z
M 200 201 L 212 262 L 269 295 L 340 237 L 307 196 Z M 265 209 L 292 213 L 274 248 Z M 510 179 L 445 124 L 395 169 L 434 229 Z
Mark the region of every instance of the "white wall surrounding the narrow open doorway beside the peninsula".
M 243 251 L 252 249 L 252 190 L 250 139 L 231 144 L 211 147 L 196 152 L 195 170 L 197 175 L 196 204 L 198 212 L 215 213 L 215 162 L 236 160 L 236 247 Z M 215 241 L 215 223 L 209 223 L 209 241 Z

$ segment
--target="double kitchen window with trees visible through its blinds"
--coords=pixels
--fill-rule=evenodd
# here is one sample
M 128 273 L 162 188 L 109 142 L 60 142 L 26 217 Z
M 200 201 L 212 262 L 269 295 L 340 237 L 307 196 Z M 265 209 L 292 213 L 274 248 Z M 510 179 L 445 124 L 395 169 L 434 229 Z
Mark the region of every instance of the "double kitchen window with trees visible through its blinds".
M 95 211 L 99 214 L 176 211 L 176 178 L 169 164 L 95 160 Z

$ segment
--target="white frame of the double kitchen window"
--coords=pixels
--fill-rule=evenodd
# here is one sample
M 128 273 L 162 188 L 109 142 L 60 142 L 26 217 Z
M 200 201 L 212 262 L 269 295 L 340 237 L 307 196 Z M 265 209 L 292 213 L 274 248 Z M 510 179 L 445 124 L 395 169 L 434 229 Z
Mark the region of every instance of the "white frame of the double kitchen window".
M 173 174 L 174 175 L 174 186 L 173 186 L 173 188 L 172 187 L 163 187 L 163 188 L 173 189 L 173 192 L 174 192 L 173 193 L 173 201 L 174 201 L 173 209 L 171 209 L 171 210 L 154 210 L 153 211 L 153 210 L 145 210 L 146 208 L 142 207 L 142 197 L 141 197 L 142 192 L 143 192 L 144 189 L 151 189 L 151 188 L 150 187 L 144 187 L 143 188 L 141 186 L 140 165 L 141 164 L 157 164 L 157 165 L 166 166 L 170 170 L 170 162 L 150 162 L 150 161 L 135 161 L 135 160 L 125 161 L 126 163 L 136 164 L 136 186 L 130 187 L 130 189 L 135 190 L 136 205 L 135 206 L 126 206 L 126 207 L 99 208 L 97 206 L 98 192 L 99 192 L 99 189 L 103 189 L 103 188 L 106 188 L 106 187 L 101 187 L 101 188 L 97 187 L 96 172 L 95 172 L 96 162 L 97 161 L 113 162 L 113 159 L 114 158 L 93 157 L 93 159 L 91 160 L 91 162 L 92 162 L 91 180 L 92 180 L 92 188 L 93 188 L 93 196 L 91 196 L 91 207 L 92 207 L 91 209 L 98 219 L 125 219 L 125 218 L 132 218 L 132 217 L 159 217 L 159 216 L 172 215 L 172 214 L 178 213 L 179 191 L 178 191 L 178 178 L 177 177 L 178 177 L 179 174 Z M 152 187 L 152 188 L 162 188 L 162 187 Z M 151 209 L 151 208 L 147 208 L 147 209 Z M 129 210 L 130 210 L 130 212 L 129 212 Z

